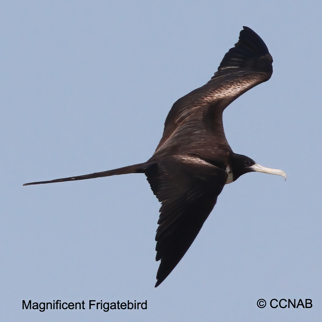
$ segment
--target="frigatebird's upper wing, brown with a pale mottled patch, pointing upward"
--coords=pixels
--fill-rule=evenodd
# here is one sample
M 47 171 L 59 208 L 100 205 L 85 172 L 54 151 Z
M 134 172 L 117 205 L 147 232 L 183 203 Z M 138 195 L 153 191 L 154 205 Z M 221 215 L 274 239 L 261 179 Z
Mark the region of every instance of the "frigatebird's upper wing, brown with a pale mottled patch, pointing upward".
M 228 145 L 224 137 L 223 110 L 252 87 L 268 81 L 272 75 L 273 59 L 260 36 L 248 27 L 243 27 L 239 40 L 223 57 L 208 83 L 178 99 L 172 106 L 166 121 L 163 136 L 156 152 L 171 141 L 193 135 L 203 130 L 204 115 L 212 115 L 215 135 Z M 193 126 L 185 126 L 193 122 Z M 184 131 L 185 133 L 180 133 Z M 167 142 L 170 141 L 170 142 Z

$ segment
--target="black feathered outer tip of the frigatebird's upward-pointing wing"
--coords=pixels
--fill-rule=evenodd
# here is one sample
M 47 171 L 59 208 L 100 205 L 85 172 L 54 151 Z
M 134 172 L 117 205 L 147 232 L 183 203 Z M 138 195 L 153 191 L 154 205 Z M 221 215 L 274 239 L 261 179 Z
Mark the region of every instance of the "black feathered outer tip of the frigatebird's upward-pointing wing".
M 213 78 L 239 71 L 262 71 L 272 73 L 273 59 L 260 36 L 251 28 L 243 26 L 238 42 L 223 57 Z

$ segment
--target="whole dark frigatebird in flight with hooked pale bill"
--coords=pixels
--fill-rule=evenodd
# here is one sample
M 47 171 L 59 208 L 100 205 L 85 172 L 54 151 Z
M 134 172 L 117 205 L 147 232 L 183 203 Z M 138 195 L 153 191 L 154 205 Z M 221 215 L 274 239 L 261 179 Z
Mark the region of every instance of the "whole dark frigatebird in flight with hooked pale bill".
M 284 171 L 232 152 L 223 129 L 223 110 L 247 90 L 268 81 L 272 62 L 263 40 L 243 27 L 238 43 L 225 54 L 211 80 L 173 104 L 161 141 L 147 162 L 24 185 L 144 173 L 161 202 L 156 230 L 156 260 L 161 260 L 157 287 L 196 238 L 225 184 L 253 171 L 286 179 Z

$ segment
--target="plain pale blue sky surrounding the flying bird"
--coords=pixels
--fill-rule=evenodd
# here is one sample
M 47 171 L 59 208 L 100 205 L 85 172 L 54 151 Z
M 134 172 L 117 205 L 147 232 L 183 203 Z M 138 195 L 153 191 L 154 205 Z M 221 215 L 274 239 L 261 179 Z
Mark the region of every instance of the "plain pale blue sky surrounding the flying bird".
M 1 1 L 2 321 L 320 321 L 320 1 Z M 242 26 L 270 81 L 224 112 L 236 153 L 276 175 L 227 185 L 154 288 L 159 203 L 145 175 L 51 185 L 146 161 L 172 104 L 206 83 Z M 312 299 L 313 307 L 256 302 Z M 22 310 L 22 300 L 86 310 Z M 89 310 L 88 300 L 147 300 Z

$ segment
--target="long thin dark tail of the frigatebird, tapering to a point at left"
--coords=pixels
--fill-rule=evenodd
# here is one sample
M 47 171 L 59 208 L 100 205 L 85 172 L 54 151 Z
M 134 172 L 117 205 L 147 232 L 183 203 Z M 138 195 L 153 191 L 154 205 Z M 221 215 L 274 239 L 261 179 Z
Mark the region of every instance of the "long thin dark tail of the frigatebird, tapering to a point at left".
M 24 185 L 39 185 L 39 184 L 43 184 L 43 183 L 76 181 L 76 180 L 92 179 L 92 178 L 99 178 L 99 177 L 108 177 L 110 175 L 125 175 L 128 173 L 144 173 L 146 166 L 147 166 L 147 163 L 144 162 L 144 163 L 134 164 L 132 166 L 124 166 L 124 167 L 118 168 L 118 169 L 90 173 L 89 175 L 77 175 L 74 177 L 54 179 L 54 180 L 49 180 L 49 181 L 28 182 L 28 183 L 25 183 Z

